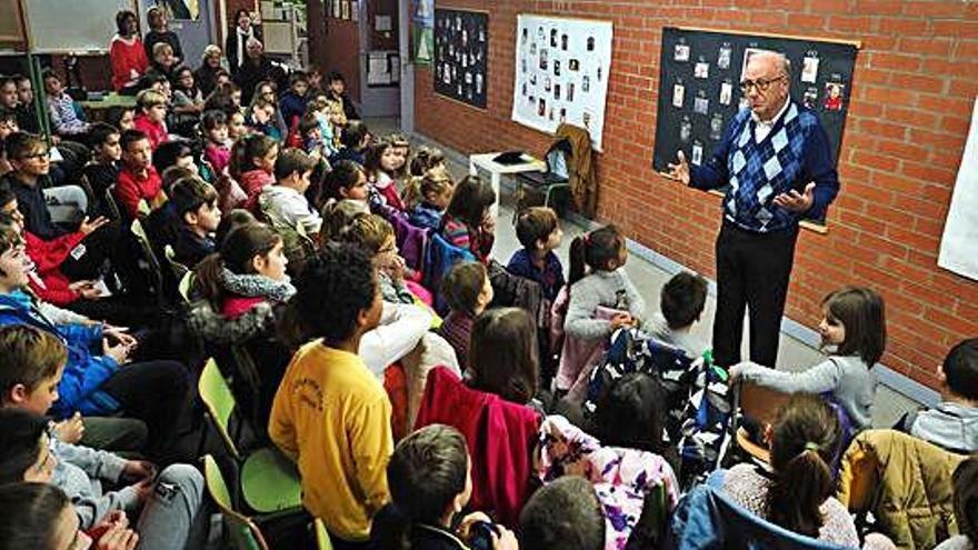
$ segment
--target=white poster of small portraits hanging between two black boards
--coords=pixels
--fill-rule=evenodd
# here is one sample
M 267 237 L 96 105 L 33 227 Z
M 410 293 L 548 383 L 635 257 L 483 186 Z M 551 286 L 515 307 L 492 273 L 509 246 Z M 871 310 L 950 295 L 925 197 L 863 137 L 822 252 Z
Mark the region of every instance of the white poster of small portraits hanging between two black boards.
M 517 16 L 512 120 L 548 133 L 586 128 L 600 151 L 611 38 L 610 21 Z

